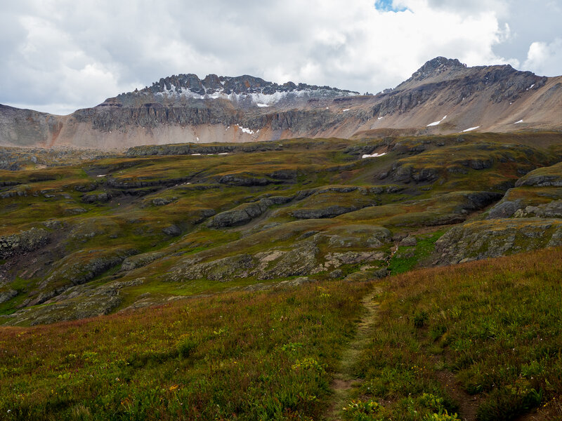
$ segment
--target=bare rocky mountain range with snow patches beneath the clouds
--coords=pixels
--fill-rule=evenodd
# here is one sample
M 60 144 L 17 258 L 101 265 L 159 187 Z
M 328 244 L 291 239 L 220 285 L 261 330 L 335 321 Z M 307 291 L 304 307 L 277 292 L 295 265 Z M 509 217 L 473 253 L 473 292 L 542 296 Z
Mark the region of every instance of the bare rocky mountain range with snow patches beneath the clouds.
M 0 145 L 178 142 L 562 129 L 562 76 L 443 57 L 377 95 L 254 76 L 179 74 L 70 116 L 0 107 Z

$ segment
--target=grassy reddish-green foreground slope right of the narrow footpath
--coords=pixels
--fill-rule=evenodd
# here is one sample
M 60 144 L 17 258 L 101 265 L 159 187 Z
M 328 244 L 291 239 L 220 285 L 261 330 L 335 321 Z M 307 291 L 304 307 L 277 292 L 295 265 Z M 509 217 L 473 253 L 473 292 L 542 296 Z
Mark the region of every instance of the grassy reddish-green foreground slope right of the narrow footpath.
M 424 394 L 448 413 L 474 399 L 478 420 L 560 419 L 561 268 L 557 248 L 389 279 L 355 395 L 390 420 L 425 420 Z

